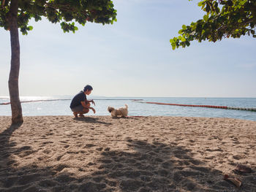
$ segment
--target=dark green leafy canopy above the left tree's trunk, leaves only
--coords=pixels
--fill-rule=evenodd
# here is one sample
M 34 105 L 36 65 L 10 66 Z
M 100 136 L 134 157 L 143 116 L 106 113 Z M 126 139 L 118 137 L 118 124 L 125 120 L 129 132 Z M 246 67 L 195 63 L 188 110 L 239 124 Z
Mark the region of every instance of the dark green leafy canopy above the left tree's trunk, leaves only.
M 2 0 L 0 7 L 0 26 L 10 29 L 10 0 Z M 29 20 L 48 18 L 51 23 L 61 23 L 64 32 L 75 32 L 75 22 L 113 24 L 116 21 L 116 9 L 110 0 L 20 0 L 18 1 L 18 28 L 22 34 L 28 34 L 33 27 Z M 74 22 L 75 21 L 75 22 Z

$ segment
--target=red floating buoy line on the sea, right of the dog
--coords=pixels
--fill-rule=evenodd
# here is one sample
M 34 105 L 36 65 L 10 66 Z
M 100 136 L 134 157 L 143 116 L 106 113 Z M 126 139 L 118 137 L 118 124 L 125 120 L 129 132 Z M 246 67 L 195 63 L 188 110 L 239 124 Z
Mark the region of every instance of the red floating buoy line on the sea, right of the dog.
M 246 108 L 246 107 L 227 107 L 227 106 L 216 106 L 216 105 L 200 105 L 200 104 L 167 104 L 167 103 L 159 103 L 159 102 L 148 102 L 141 100 L 132 100 L 135 102 L 145 103 L 145 104 L 162 104 L 162 105 L 174 105 L 180 107 L 207 107 L 207 108 L 216 108 L 223 110 L 244 110 L 244 111 L 254 111 L 256 112 L 256 108 Z

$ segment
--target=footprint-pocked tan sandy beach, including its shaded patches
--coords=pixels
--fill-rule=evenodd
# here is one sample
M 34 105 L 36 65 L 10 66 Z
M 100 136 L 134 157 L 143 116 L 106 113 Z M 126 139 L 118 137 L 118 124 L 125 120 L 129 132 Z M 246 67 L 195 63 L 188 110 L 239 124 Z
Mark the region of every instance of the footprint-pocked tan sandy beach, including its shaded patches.
M 39 116 L 10 123 L 0 117 L 0 191 L 256 191 L 256 121 Z M 251 172 L 236 172 L 238 164 Z

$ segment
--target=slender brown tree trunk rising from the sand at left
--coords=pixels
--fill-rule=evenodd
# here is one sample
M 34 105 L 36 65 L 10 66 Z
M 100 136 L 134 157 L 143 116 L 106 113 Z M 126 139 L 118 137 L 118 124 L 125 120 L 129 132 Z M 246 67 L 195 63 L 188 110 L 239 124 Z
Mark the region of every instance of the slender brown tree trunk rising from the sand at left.
M 9 75 L 9 93 L 12 108 L 12 124 L 23 123 L 20 104 L 18 77 L 20 72 L 20 42 L 18 34 L 18 0 L 12 0 L 9 12 L 10 39 L 12 49 L 11 69 Z

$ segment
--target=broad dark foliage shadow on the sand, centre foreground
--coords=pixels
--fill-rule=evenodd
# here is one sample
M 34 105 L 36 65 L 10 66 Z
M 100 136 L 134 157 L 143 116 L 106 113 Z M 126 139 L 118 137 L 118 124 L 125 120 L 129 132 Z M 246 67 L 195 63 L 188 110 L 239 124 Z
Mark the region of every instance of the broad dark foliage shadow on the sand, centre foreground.
M 222 172 L 195 160 L 184 147 L 132 139 L 127 145 L 134 152 L 102 152 L 99 171 L 92 174 L 92 180 L 100 180 L 103 176 L 105 183 L 118 185 L 120 191 L 233 190 L 233 186 L 222 179 L 214 183 L 213 178 L 221 178 Z

